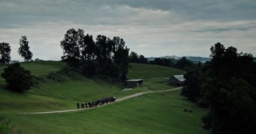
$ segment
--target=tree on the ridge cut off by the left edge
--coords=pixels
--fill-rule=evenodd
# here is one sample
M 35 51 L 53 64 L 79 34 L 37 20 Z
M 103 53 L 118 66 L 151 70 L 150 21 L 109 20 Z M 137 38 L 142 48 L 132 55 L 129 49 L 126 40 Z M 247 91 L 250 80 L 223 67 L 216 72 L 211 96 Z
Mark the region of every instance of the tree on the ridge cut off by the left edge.
M 9 46 L 9 43 L 0 43 L 0 65 L 9 64 L 11 60 L 10 53 L 11 47 Z

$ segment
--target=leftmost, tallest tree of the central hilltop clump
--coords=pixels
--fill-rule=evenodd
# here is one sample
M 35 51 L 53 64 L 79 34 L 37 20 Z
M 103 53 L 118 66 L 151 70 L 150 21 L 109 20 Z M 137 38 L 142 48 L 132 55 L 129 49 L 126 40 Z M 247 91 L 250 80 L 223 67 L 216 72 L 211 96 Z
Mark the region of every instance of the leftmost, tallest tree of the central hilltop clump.
M 81 38 L 83 38 L 82 30 L 78 29 L 78 31 L 76 31 L 75 29 L 69 29 L 65 34 L 64 39 L 60 41 L 60 46 L 63 49 L 64 54 L 61 58 L 71 67 L 79 67 L 79 59 L 81 58 L 79 43 L 83 43 Z

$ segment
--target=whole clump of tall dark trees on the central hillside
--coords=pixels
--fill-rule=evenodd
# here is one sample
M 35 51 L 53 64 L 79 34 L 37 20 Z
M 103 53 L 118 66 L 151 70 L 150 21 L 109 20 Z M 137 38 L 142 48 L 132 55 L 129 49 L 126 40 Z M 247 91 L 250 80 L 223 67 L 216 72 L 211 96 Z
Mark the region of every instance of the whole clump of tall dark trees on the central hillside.
M 60 46 L 63 49 L 61 59 L 84 76 L 98 74 L 122 81 L 127 79 L 130 49 L 122 38 L 98 35 L 94 41 L 83 29 L 69 29 Z

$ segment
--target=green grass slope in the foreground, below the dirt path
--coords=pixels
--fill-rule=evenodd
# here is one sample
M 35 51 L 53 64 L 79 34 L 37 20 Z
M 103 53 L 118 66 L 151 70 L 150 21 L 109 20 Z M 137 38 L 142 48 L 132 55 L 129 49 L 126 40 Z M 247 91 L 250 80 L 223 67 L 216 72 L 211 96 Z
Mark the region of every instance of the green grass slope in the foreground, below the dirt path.
M 53 114 L 4 114 L 21 133 L 209 133 L 180 91 L 149 93 L 97 109 Z M 183 112 L 191 109 L 193 113 Z

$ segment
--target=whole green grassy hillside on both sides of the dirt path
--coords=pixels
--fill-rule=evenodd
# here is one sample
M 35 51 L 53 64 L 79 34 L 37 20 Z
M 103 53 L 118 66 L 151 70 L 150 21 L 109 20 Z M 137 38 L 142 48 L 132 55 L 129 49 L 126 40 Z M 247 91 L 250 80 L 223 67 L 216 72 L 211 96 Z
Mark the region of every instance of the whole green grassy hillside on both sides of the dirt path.
M 169 90 L 163 78 L 185 72 L 156 65 L 131 64 L 129 78 L 144 78 L 143 87 L 150 90 Z M 18 114 L 75 109 L 77 101 L 94 101 L 100 97 L 145 92 L 142 87 L 122 91 L 123 85 L 105 79 L 83 78 L 56 82 L 47 75 L 66 66 L 60 61 L 22 63 L 35 76 L 43 77 L 27 93 L 5 90 L 6 83 L 0 78 L 0 118 L 14 124 L 12 133 L 209 133 L 202 129 L 201 117 L 206 110 L 197 108 L 181 90 L 149 93 L 101 108 L 54 114 Z M 4 67 L 0 67 L 0 72 Z M 183 112 L 191 109 L 193 113 Z M 0 128 L 2 124 L 0 122 Z M 1 133 L 1 130 L 0 130 Z

